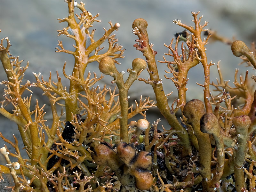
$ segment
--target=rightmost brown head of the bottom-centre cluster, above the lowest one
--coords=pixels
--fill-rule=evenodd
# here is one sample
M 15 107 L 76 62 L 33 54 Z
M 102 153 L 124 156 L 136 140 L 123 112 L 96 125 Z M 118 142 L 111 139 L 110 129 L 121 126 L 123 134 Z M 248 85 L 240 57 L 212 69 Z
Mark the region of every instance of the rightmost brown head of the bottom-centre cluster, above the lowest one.
M 133 168 L 147 169 L 152 164 L 152 153 L 147 151 L 140 151 L 134 162 L 132 163 Z

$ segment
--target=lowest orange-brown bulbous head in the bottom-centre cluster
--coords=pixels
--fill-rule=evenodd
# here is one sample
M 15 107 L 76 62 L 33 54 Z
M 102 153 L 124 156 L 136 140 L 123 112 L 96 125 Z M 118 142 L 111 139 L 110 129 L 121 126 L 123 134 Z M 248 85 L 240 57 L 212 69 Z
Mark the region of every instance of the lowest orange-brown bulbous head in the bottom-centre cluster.
M 138 189 L 148 190 L 153 185 L 153 176 L 149 170 L 133 169 L 131 174 L 135 177 Z

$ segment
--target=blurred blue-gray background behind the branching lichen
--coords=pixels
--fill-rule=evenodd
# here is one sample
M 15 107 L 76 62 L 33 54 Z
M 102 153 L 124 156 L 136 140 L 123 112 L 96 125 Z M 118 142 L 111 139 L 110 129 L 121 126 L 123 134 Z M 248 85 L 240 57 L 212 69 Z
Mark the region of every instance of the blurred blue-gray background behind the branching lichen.
M 103 27 L 109 28 L 108 21 L 112 23 L 119 22 L 120 28 L 115 32 L 118 38 L 119 44 L 123 45 L 126 49 L 124 52 L 124 59 L 118 59 L 122 64 L 117 66 L 119 71 L 126 71 L 127 68 L 131 68 L 132 60 L 139 57 L 144 59 L 142 53 L 136 51 L 133 47 L 134 40 L 137 36 L 132 34 L 132 22 L 137 18 L 144 18 L 148 22 L 148 36 L 149 43 L 153 43 L 153 49 L 157 51 L 156 60 L 163 60 L 162 55 L 168 52 L 168 49 L 164 47 L 165 44 L 169 44 L 174 34 L 181 32 L 184 29 L 173 24 L 172 20 L 179 19 L 182 23 L 192 25 L 191 11 L 200 11 L 199 16 L 204 15 L 202 18 L 202 24 L 204 21 L 209 21 L 206 28 L 217 31 L 220 36 L 225 36 L 229 39 L 234 37 L 236 40 L 244 41 L 248 46 L 252 41 L 255 41 L 256 36 L 256 1 L 162 1 L 162 0 L 94 0 L 84 2 L 86 10 L 96 15 L 100 13 L 98 17 L 101 23 L 95 22 L 93 28 L 96 28 L 95 39 L 101 37 L 104 33 Z M 52 71 L 52 79 L 56 79 L 55 71 L 58 69 L 62 77 L 62 83 L 68 85 L 68 80 L 61 74 L 62 66 L 65 61 L 66 73 L 71 71 L 74 65 L 74 58 L 71 55 L 65 53 L 55 53 L 55 47 L 57 47 L 57 40 L 63 40 L 64 47 L 66 49 L 72 49 L 71 44 L 74 42 L 72 39 L 66 36 L 57 37 L 57 29 L 67 27 L 65 22 L 58 23 L 57 18 L 64 18 L 68 15 L 67 3 L 63 0 L 0 0 L 0 33 L 1 38 L 5 36 L 9 37 L 12 47 L 10 52 L 12 55 L 19 55 L 20 59 L 23 59 L 23 65 L 26 65 L 26 61 L 29 60 L 29 68 L 24 76 L 24 80 L 35 80 L 32 72 L 41 72 L 45 79 L 49 77 L 49 71 Z M 92 28 L 92 29 L 93 29 Z M 107 49 L 108 44 L 104 50 Z M 179 46 L 180 47 L 180 46 Z M 230 80 L 230 85 L 234 80 L 234 72 L 237 64 L 241 60 L 233 56 L 230 45 L 222 44 L 221 42 L 212 42 L 207 45 L 207 59 L 208 62 L 217 63 L 219 60 L 220 68 L 223 72 L 225 80 Z M 167 60 L 172 60 L 170 57 L 166 57 Z M 169 96 L 170 103 L 177 97 L 176 88 L 170 80 L 164 78 L 164 70 L 168 70 L 166 64 L 158 63 L 158 71 L 160 78 L 163 79 L 164 91 L 174 92 Z M 255 74 L 252 68 L 245 68 L 239 66 L 239 74 L 245 74 L 245 70 L 249 69 L 250 74 Z M 5 80 L 6 76 L 1 65 L 0 80 Z M 86 71 L 94 71 L 100 76 L 98 69 L 98 63 L 90 63 L 86 68 Z M 85 73 L 87 75 L 87 72 Z M 70 73 L 69 73 L 70 74 Z M 124 79 L 127 78 L 125 73 Z M 167 75 L 170 76 L 170 75 Z M 147 78 L 147 71 L 143 71 L 140 77 Z M 188 91 L 187 100 L 198 98 L 202 100 L 203 90 L 202 87 L 196 85 L 196 82 L 203 83 L 203 69 L 201 64 L 192 68 L 188 74 Z M 216 66 L 211 67 L 211 80 L 215 80 L 218 77 Z M 113 87 L 110 83 L 112 77 L 106 76 L 99 84 L 102 87 L 104 84 Z M 23 82 L 25 82 L 23 80 Z M 1 95 L 4 86 L 1 85 Z M 37 90 L 37 91 L 36 91 Z M 39 99 L 39 105 L 43 106 L 44 103 L 48 104 L 47 98 L 42 97 L 42 92 L 38 89 L 34 90 L 33 100 Z M 140 95 L 150 96 L 154 99 L 154 93 L 152 87 L 143 82 L 136 81 L 130 88 L 128 95 L 131 100 L 137 99 Z M 1 100 L 3 97 L 1 96 Z M 34 106 L 34 104 L 31 104 Z M 44 108 L 46 112 L 49 111 L 49 106 Z M 149 113 L 148 113 L 149 114 Z M 141 116 L 138 116 L 141 118 Z M 158 117 L 154 117 L 153 121 L 156 121 Z M 45 119 L 51 121 L 51 112 L 46 113 Z M 162 122 L 160 122 L 162 123 Z M 5 117 L 1 116 L 0 131 L 6 138 L 12 138 L 14 133 L 16 137 L 19 134 L 16 132 L 17 127 L 15 124 L 10 123 Z M 168 127 L 167 127 L 168 128 Z M 13 139 L 12 139 L 13 140 Z M 3 147 L 3 140 L 0 140 L 0 147 Z M 23 144 L 20 142 L 20 148 Z M 3 162 L 4 163 L 4 162 Z M 2 164 L 2 162 L 1 162 Z

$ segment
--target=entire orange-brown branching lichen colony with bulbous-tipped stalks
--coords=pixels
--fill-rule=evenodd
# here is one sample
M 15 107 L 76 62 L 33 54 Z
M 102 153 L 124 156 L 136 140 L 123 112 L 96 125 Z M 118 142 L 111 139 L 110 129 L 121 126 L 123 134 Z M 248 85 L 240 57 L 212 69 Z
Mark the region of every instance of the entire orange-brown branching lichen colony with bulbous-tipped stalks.
M 172 77 L 164 76 L 177 88 L 177 98 L 169 105 L 167 97 L 171 93 L 164 93 L 155 60 L 157 51 L 149 43 L 146 20 L 140 18 L 132 23 L 132 32 L 138 36 L 133 46 L 145 60 L 135 58 L 132 67 L 127 67 L 129 76 L 125 80 L 125 72 L 116 68 L 120 64 L 116 59 L 124 58 L 124 49 L 113 34 L 121 25 L 109 21 L 110 27 L 104 28 L 102 37 L 96 39 L 92 27 L 94 22 L 100 22 L 99 14 L 93 16 L 83 2 L 65 2 L 68 16 L 58 20 L 68 26 L 57 32 L 58 36 L 75 41 L 74 50 L 65 49 L 58 40 L 56 52 L 68 53 L 75 60 L 72 71 L 65 71 L 66 62 L 62 68 L 70 83 L 68 88 L 62 84 L 58 71 L 57 81 L 52 81 L 51 72 L 48 80 L 35 72 L 35 80 L 22 82 L 29 62 L 22 66 L 19 56 L 12 56 L 9 51 L 9 38 L 1 39 L 0 59 L 7 80 L 1 82 L 6 87 L 0 113 L 17 124 L 28 158 L 20 153 L 15 136 L 18 132 L 13 135 L 15 142 L 0 132 L 4 142 L 16 152 L 1 146 L 6 164 L 1 162 L 0 181 L 1 174 L 10 173 L 14 181 L 10 188 L 14 192 L 255 191 L 256 92 L 248 71 L 238 79 L 236 69 L 234 87 L 228 84 L 220 62 L 219 79 L 217 83 L 210 82 L 210 67 L 214 63 L 207 60 L 205 48 L 211 37 L 232 44 L 233 54 L 256 68 L 255 44 L 250 50 L 242 41 L 232 42 L 216 32 L 212 35 L 211 30 L 205 29 L 208 22 L 200 24 L 199 12 L 191 12 L 194 27 L 173 20 L 186 30 L 178 33 L 176 40 L 172 38 L 169 45 L 163 45 L 168 53 L 164 53 L 163 61 L 158 61 L 167 64 L 165 72 Z M 75 9 L 80 15 L 75 14 Z M 207 37 L 202 39 L 205 32 Z M 100 47 L 104 41 L 108 48 Z M 87 65 L 94 61 L 99 63 L 101 73 L 113 77 L 114 89 L 96 86 L 104 76 L 86 72 Z M 204 70 L 204 82 L 197 84 L 203 88 L 204 101 L 188 101 L 188 72 L 199 64 Z M 148 79 L 140 78 L 145 69 Z M 252 79 L 256 81 L 255 76 Z M 141 96 L 135 101 L 135 108 L 129 103 L 129 88 L 136 80 L 146 83 L 143 89 L 153 88 L 156 101 L 149 97 L 143 100 Z M 210 91 L 211 86 L 215 90 Z M 30 105 L 34 99 L 31 87 L 41 89 L 48 98 L 51 124 L 45 123 L 46 103 L 36 99 L 36 106 Z M 27 91 L 31 96 L 24 98 Z M 237 100 L 241 98 L 244 104 L 239 107 Z M 7 110 L 7 104 L 12 105 L 12 112 Z M 161 119 L 157 114 L 153 120 L 147 118 L 146 111 L 152 107 L 159 109 L 170 128 L 159 128 Z M 136 115 L 140 116 L 137 122 L 131 120 Z M 10 156 L 17 160 L 12 162 Z

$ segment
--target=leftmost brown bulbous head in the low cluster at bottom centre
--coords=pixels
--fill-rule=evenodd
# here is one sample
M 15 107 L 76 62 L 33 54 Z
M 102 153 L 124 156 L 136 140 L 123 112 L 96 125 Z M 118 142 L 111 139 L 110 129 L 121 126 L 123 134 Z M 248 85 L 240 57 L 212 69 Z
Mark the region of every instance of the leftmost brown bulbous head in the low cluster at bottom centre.
M 93 161 L 99 165 L 107 165 L 108 158 L 112 158 L 116 155 L 116 152 L 108 145 L 100 144 L 93 149 L 94 153 L 91 153 Z

